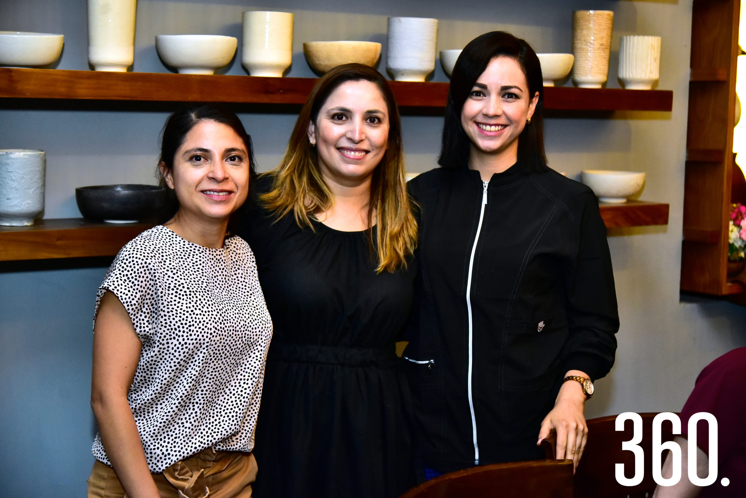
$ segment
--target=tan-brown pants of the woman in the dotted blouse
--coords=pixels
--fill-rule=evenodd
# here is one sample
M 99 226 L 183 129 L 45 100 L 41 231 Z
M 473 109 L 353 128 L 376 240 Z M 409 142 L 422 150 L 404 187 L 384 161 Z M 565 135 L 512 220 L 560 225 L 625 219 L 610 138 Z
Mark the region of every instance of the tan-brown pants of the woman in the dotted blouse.
M 152 474 L 161 498 L 251 498 L 257 478 L 253 453 L 207 448 Z M 88 479 L 88 498 L 126 498 L 114 469 L 96 460 Z

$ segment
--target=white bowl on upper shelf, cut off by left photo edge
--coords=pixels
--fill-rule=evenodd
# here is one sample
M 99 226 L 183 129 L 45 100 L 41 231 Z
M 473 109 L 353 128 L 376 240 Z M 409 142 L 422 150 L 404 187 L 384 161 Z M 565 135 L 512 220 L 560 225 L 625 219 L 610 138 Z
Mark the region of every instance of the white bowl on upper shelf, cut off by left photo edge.
M 61 34 L 0 31 L 0 64 L 48 66 L 62 53 Z

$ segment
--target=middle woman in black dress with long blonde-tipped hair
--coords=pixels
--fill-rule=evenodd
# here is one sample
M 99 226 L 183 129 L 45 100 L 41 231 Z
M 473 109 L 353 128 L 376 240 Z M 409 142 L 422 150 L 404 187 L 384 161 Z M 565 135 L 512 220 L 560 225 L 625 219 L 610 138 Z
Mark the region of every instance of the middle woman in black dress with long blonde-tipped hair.
M 416 221 L 400 130 L 378 72 L 327 72 L 242 216 L 275 327 L 257 497 L 395 497 L 411 484 L 395 341 Z

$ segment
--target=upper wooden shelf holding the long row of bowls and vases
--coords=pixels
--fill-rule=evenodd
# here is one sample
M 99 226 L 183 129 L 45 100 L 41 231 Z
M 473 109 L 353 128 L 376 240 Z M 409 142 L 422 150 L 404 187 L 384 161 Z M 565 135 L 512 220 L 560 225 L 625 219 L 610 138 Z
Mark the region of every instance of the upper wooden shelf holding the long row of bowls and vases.
M 151 72 L 97 72 L 0 68 L 0 98 L 72 101 L 230 102 L 304 104 L 315 78 L 177 75 Z M 400 107 L 443 110 L 448 83 L 392 81 Z M 545 88 L 545 110 L 670 111 L 670 90 Z

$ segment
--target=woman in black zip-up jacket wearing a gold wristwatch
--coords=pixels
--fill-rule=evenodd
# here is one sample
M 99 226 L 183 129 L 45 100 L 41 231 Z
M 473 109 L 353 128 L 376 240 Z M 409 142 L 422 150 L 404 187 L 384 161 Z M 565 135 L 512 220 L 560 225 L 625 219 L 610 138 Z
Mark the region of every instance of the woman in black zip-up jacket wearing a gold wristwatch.
M 547 166 L 542 72 L 495 31 L 457 60 L 441 168 L 410 189 L 420 262 L 404 352 L 424 476 L 557 458 L 577 465 L 592 381 L 619 327 L 606 227 L 593 192 Z M 538 440 L 538 441 L 537 441 Z

